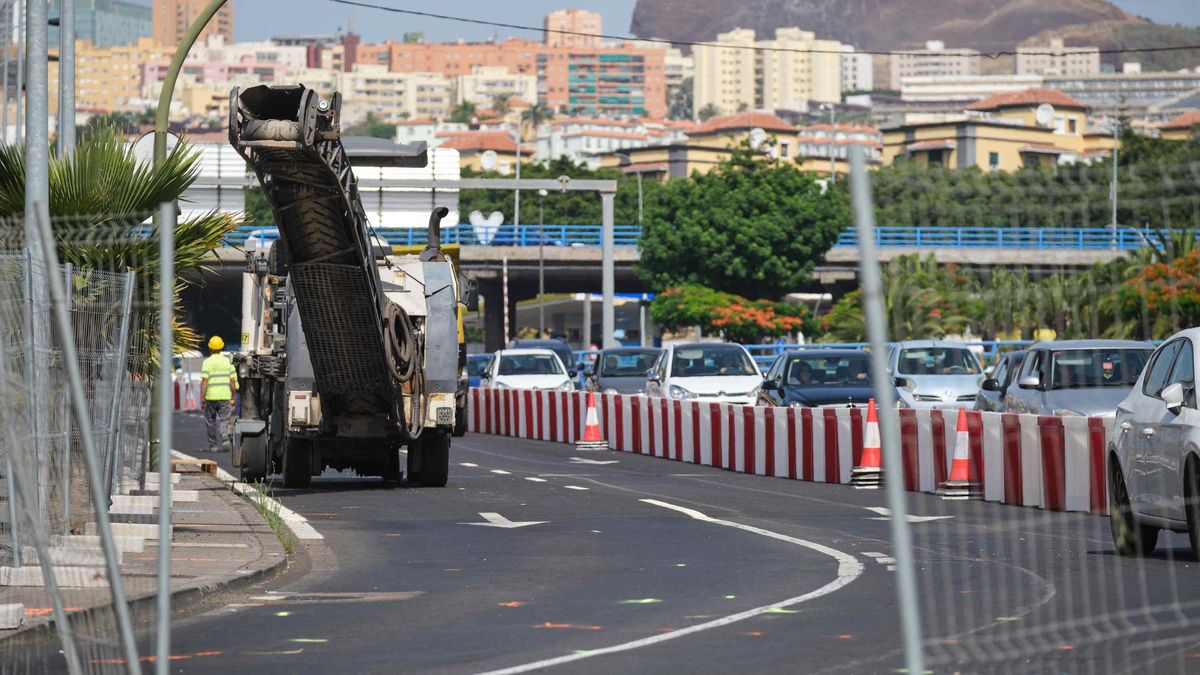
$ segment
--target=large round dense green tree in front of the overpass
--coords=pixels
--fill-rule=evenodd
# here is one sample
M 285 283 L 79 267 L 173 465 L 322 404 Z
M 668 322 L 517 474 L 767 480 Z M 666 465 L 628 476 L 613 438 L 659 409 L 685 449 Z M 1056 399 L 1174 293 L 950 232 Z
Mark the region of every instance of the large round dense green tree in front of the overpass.
M 840 185 L 826 190 L 743 145 L 713 172 L 671 181 L 647 207 L 637 274 L 655 291 L 698 283 L 778 298 L 810 280 L 848 225 Z

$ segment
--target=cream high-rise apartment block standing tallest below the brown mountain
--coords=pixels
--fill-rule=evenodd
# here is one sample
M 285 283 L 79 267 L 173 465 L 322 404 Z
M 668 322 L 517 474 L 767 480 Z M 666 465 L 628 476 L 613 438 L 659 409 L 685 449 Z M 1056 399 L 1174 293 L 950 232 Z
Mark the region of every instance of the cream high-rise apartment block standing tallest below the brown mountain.
M 839 102 L 845 46 L 798 28 L 781 28 L 774 40 L 737 29 L 697 46 L 695 108 L 721 114 L 746 108 L 803 108 L 809 101 Z

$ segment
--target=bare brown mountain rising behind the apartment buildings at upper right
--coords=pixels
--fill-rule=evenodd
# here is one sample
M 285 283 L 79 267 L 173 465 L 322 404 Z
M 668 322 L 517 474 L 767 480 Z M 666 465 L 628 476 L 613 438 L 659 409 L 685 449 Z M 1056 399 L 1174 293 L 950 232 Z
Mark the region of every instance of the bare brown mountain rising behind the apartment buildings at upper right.
M 1090 40 L 1100 47 L 1200 43 L 1200 30 L 1162 26 L 1106 0 L 637 0 L 630 31 L 701 42 L 734 28 L 769 36 L 782 26 L 870 50 L 920 48 L 928 40 L 941 40 L 948 47 L 1000 52 L 1058 34 L 1067 44 Z M 1200 53 L 1186 52 L 1134 54 L 1128 60 L 1153 67 L 1168 60 L 1196 65 Z

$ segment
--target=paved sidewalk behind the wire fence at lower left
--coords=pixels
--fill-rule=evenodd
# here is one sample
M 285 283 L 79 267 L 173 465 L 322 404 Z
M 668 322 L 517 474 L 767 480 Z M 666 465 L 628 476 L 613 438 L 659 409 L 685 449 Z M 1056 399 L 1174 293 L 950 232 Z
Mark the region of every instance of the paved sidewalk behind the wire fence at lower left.
M 278 538 L 250 501 L 238 496 L 229 484 L 206 473 L 175 473 L 172 524 L 173 610 L 199 602 L 230 586 L 268 577 L 287 563 Z M 148 483 L 146 488 L 151 488 Z M 137 623 L 152 616 L 157 585 L 157 513 L 152 497 L 116 496 L 112 512 L 133 514 L 114 518 L 139 522 L 114 522 L 125 595 Z M 154 515 L 149 515 L 154 514 Z M 151 525 L 151 522 L 155 522 Z M 56 537 L 54 556 L 60 584 L 92 587 L 61 590 L 68 617 L 101 616 L 112 613 L 100 539 L 89 536 Z M 0 615 L 5 605 L 23 605 L 24 623 L 17 629 L 0 629 L 0 643 L 30 633 L 53 633 L 48 593 L 41 587 L 36 551 L 30 546 L 25 567 L 0 568 Z M 8 608 L 10 613 L 14 608 Z M 4 626 L 0 616 L 0 626 Z

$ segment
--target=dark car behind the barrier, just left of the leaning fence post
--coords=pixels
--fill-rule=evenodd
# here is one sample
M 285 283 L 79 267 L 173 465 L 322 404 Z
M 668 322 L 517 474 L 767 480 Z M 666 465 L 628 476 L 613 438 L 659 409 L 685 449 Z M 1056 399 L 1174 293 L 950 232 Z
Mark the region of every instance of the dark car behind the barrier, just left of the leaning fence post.
M 758 405 L 859 407 L 874 398 L 866 352 L 794 350 L 780 354 L 767 371 Z

